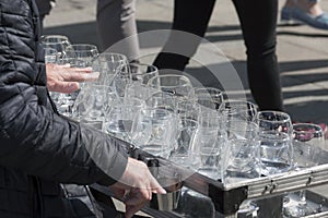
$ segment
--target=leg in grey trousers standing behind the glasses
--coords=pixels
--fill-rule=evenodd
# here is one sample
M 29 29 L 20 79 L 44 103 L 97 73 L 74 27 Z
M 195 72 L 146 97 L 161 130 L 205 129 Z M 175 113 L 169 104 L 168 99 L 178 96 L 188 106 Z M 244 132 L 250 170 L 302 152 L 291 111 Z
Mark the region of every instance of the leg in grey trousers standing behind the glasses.
M 98 0 L 96 20 L 102 50 L 110 47 L 110 51 L 124 53 L 129 60 L 139 57 L 136 0 Z

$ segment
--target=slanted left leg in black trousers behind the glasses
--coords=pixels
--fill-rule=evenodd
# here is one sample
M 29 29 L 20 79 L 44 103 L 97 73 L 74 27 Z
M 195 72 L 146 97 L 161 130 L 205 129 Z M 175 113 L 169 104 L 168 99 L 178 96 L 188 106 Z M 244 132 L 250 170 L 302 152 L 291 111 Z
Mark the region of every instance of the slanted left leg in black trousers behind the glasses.
M 184 71 L 189 59 L 195 55 L 200 39 L 204 36 L 215 0 L 175 0 L 173 32 L 154 65 L 159 69 Z M 187 35 L 186 33 L 196 35 Z M 166 51 L 166 52 L 165 52 Z M 183 55 L 184 56 L 183 56 Z

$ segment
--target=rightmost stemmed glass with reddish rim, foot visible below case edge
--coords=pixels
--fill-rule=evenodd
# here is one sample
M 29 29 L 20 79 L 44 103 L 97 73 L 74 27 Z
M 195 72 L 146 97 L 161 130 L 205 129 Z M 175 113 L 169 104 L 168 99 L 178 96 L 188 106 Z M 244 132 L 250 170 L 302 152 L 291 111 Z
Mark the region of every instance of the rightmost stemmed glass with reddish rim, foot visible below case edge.
M 293 124 L 294 169 L 302 170 L 317 166 L 320 161 L 320 149 L 325 146 L 324 132 L 321 128 L 313 123 Z M 313 210 L 306 203 L 306 191 L 301 190 L 293 201 L 290 194 L 283 214 L 288 217 L 303 217 L 311 215 Z

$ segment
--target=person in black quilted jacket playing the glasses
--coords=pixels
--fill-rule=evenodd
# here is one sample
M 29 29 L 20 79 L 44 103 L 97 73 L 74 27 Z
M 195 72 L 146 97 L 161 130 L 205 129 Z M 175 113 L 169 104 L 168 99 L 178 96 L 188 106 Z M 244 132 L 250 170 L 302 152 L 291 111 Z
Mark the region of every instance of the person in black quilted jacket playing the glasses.
M 0 0 L 0 217 L 95 217 L 92 183 L 125 194 L 127 217 L 164 193 L 125 142 L 56 112 L 34 0 Z

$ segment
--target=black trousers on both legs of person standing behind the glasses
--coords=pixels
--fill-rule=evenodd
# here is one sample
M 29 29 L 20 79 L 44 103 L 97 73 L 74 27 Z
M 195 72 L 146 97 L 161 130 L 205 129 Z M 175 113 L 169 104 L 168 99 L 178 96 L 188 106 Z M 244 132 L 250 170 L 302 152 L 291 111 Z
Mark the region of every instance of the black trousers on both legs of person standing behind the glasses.
M 215 0 L 175 0 L 172 28 L 203 37 L 214 3 Z M 283 110 L 276 56 L 278 0 L 233 0 L 233 3 L 246 46 L 248 82 L 253 97 L 260 110 Z M 172 45 L 172 40 L 175 40 L 174 36 L 168 38 L 163 50 Z M 161 52 L 154 65 L 159 69 L 184 71 L 199 44 L 198 39 L 188 41 L 188 51 L 183 52 L 187 56 Z

